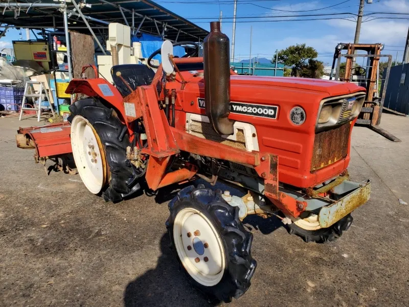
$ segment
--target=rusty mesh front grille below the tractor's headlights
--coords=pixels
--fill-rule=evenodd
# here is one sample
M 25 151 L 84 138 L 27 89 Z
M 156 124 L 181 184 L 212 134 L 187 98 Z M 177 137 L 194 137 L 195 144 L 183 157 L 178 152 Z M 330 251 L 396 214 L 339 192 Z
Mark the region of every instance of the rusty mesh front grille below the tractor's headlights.
M 347 157 L 350 129 L 347 123 L 315 135 L 311 172 Z

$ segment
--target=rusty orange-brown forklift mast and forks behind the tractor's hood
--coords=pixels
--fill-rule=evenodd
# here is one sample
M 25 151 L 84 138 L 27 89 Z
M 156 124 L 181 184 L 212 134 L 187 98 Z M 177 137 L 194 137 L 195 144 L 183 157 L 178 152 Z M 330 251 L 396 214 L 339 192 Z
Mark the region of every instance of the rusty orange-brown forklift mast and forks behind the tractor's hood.
M 401 142 L 401 140 L 390 134 L 387 130 L 379 127 L 383 101 L 385 99 L 386 87 L 388 85 L 392 65 L 392 55 L 381 54 L 382 49 L 383 45 L 381 43 L 338 43 L 335 47 L 329 79 L 352 82 L 365 87 L 367 94 L 356 123 L 358 125 L 368 126 L 391 141 Z M 347 52 L 343 53 L 344 50 Z M 366 54 L 359 54 L 359 51 L 365 51 Z M 343 57 L 346 58 L 344 75 L 340 72 Z M 379 60 L 381 57 L 388 58 L 388 67 L 383 73 L 382 78 L 379 79 Z M 361 62 L 361 59 L 363 63 L 362 65 L 358 65 L 357 62 Z M 333 78 L 335 64 L 335 78 Z M 384 86 L 382 93 L 379 95 L 381 81 Z M 343 110 L 343 112 L 346 111 Z

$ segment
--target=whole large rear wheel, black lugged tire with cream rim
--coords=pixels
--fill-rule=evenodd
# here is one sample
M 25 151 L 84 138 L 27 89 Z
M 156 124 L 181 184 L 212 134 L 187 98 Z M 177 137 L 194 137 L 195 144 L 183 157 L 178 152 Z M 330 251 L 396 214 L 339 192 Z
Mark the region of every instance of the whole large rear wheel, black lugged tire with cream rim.
M 126 147 L 131 146 L 128 129 L 116 111 L 86 98 L 72 104 L 70 112 L 75 164 L 88 190 L 114 203 L 140 190 L 140 172 L 126 160 Z

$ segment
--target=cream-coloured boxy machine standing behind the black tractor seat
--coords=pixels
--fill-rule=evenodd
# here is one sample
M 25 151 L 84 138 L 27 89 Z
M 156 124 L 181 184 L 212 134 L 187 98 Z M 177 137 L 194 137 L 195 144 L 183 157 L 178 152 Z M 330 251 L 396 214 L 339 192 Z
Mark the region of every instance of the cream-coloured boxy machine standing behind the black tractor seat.
M 109 39 L 106 41 L 106 49 L 111 55 L 97 56 L 98 71 L 102 77 L 112 83 L 111 68 L 121 64 L 145 64 L 147 59 L 142 56 L 140 42 L 131 43 L 131 28 L 118 23 L 108 26 Z M 159 65 L 158 60 L 152 60 L 152 64 Z

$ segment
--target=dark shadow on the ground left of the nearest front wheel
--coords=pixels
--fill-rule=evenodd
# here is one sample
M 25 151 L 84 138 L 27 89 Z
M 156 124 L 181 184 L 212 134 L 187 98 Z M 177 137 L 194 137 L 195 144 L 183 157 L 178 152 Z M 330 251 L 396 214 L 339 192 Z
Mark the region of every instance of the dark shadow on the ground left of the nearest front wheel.
M 124 293 L 125 307 L 218 305 L 218 302 L 209 302 L 193 289 L 185 274 L 179 270 L 168 233 L 162 236 L 161 251 L 155 269 L 129 282 Z

